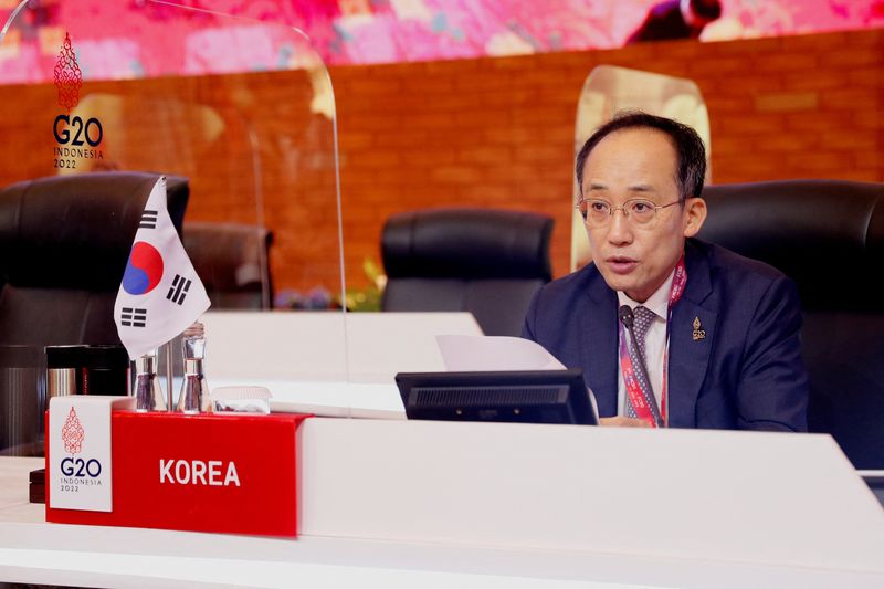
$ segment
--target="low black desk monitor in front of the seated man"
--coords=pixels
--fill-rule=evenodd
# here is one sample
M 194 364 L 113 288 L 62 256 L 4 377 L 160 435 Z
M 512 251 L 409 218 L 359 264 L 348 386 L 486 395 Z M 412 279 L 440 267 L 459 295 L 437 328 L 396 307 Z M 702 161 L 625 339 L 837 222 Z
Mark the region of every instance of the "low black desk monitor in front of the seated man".
M 579 369 L 399 372 L 396 385 L 408 419 L 598 424 Z

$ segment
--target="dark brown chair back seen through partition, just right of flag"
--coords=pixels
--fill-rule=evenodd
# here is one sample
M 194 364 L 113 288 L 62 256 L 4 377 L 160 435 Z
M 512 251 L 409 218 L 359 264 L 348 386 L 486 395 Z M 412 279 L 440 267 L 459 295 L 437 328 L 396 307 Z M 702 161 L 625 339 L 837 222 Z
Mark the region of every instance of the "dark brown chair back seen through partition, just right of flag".
M 185 250 L 200 276 L 212 311 L 271 308 L 270 245 L 260 225 L 188 222 Z

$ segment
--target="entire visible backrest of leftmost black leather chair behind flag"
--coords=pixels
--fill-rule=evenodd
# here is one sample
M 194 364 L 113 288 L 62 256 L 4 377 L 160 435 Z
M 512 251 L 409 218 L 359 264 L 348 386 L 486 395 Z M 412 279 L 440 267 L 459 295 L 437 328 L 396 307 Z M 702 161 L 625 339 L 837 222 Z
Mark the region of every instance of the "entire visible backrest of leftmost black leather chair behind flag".
M 0 344 L 119 344 L 114 299 L 159 176 L 95 172 L 0 190 Z M 183 178 L 167 178 L 180 234 Z

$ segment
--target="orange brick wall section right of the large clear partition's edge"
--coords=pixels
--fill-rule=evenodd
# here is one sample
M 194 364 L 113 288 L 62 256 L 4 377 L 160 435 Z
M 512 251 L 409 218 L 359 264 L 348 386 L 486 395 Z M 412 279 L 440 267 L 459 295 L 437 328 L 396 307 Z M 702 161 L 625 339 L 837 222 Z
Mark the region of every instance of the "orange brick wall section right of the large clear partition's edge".
M 600 64 L 697 83 L 718 183 L 884 181 L 882 30 L 339 67 L 341 182 L 358 219 L 345 221 L 348 267 L 379 255 L 392 212 L 475 204 L 552 215 L 554 270 L 566 273 L 577 99 Z

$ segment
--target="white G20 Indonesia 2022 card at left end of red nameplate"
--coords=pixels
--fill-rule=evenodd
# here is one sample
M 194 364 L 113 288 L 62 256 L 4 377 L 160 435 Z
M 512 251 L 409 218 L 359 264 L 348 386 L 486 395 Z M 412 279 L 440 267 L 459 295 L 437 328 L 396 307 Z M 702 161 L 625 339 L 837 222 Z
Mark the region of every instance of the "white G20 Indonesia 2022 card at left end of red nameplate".
M 113 511 L 110 412 L 128 397 L 53 397 L 49 407 L 50 507 Z

